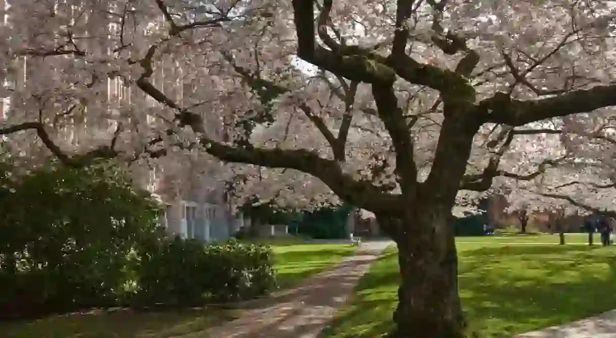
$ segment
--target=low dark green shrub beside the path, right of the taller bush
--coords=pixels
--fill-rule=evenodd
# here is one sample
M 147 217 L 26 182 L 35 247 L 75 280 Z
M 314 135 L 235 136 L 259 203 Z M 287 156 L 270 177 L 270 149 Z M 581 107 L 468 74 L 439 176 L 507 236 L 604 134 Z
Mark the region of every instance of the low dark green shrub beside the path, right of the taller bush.
M 198 305 L 261 296 L 275 287 L 272 261 L 267 246 L 164 240 L 142 257 L 137 302 Z

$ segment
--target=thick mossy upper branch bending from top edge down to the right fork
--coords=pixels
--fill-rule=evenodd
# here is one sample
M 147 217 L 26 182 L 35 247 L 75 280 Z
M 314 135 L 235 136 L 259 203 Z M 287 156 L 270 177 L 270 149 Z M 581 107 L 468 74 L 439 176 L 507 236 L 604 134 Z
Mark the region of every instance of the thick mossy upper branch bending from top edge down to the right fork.
M 326 1 L 323 6 L 319 20 L 322 24 L 329 20 L 326 15 L 330 5 L 331 2 Z M 408 18 L 413 11 L 412 2 L 400 0 L 399 6 L 398 21 L 404 26 L 405 18 Z M 323 33 L 326 31 L 321 29 L 320 36 L 330 45 L 330 49 L 325 49 L 315 41 L 314 0 L 293 0 L 293 9 L 298 34 L 298 57 L 351 81 L 389 85 L 400 76 L 410 83 L 439 90 L 444 100 L 452 104 L 463 106 L 474 104 L 474 88 L 464 78 L 463 73 L 467 73 L 466 69 L 472 69 L 476 65 L 478 61 L 476 53 L 469 53 L 464 62 L 466 66 L 461 66 L 464 71 L 459 70 L 459 73 L 456 73 L 449 69 L 419 63 L 406 53 L 399 52 L 404 50 L 408 34 L 404 39 L 400 34 L 396 35 L 395 53 L 385 58 L 373 50 L 362 49 L 359 46 L 334 45 L 333 39 L 325 36 Z

